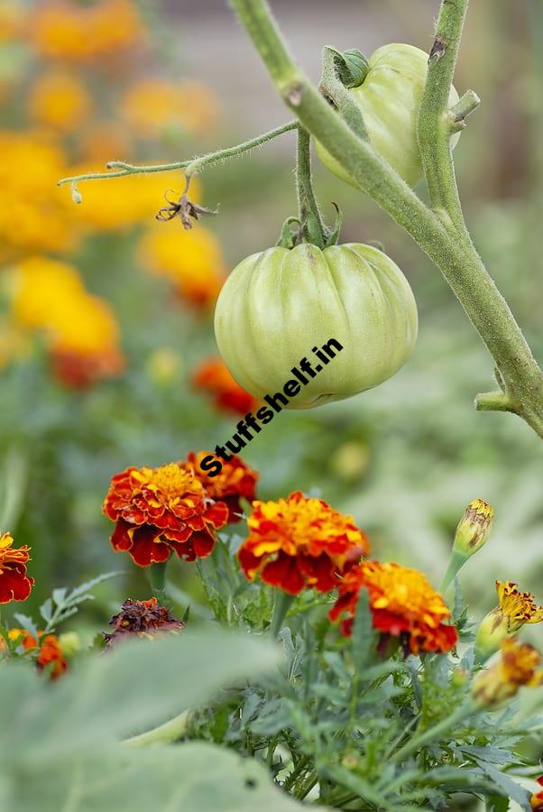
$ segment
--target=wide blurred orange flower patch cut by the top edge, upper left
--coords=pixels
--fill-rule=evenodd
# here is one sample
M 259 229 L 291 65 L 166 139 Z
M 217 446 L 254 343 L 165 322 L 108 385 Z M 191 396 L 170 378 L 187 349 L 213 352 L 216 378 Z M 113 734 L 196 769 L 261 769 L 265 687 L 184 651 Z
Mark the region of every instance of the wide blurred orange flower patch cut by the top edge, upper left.
M 137 5 L 129 0 L 41 0 L 28 26 L 28 39 L 38 53 L 67 61 L 115 56 L 143 34 Z

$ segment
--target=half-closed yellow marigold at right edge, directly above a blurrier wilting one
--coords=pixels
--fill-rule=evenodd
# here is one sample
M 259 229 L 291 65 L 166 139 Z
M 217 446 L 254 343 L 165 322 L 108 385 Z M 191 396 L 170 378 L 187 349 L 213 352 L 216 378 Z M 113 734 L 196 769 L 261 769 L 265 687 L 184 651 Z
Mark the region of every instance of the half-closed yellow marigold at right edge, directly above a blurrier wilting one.
M 512 581 L 496 581 L 499 605 L 483 618 L 475 648 L 481 658 L 498 651 L 502 640 L 518 632 L 525 623 L 543 623 L 543 606 L 529 592 L 520 592 Z

